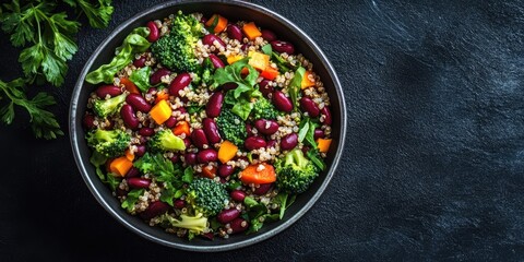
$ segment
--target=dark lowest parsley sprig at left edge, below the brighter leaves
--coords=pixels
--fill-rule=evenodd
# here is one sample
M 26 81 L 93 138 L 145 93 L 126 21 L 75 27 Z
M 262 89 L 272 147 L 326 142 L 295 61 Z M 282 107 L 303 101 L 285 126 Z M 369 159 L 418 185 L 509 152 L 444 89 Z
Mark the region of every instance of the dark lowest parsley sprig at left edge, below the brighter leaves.
M 32 99 L 24 93 L 25 81 L 16 79 L 9 83 L 0 80 L 1 97 L 9 98 L 7 105 L 0 109 L 0 119 L 5 124 L 11 124 L 14 119 L 14 105 L 23 107 L 29 114 L 29 122 L 37 139 L 56 139 L 63 135 L 55 115 L 45 108 L 56 104 L 55 98 L 47 93 L 40 92 Z M 1 94 L 0 93 L 0 94 Z

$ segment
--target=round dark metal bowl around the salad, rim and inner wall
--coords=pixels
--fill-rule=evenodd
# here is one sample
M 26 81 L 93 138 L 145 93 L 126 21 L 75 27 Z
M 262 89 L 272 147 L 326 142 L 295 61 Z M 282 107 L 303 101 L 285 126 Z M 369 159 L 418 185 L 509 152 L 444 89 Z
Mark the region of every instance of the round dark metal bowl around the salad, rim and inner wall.
M 325 159 L 329 168 L 317 178 L 307 192 L 297 198 L 296 202 L 286 211 L 286 215 L 282 221 L 265 224 L 257 234 L 233 235 L 228 239 L 215 239 L 214 241 L 200 238 L 188 241 L 167 234 L 160 228 L 151 227 L 139 217 L 129 215 L 120 207 L 120 202 L 102 183 L 88 160 L 91 152 L 84 140 L 85 132 L 82 129 L 82 117 L 86 109 L 90 93 L 94 91 L 95 86 L 84 81 L 85 75 L 100 64 L 109 62 L 115 53 L 115 48 L 122 43 L 123 38 L 133 28 L 144 26 L 147 21 L 166 17 L 178 10 L 182 10 L 184 13 L 201 12 L 207 16 L 217 12 L 231 20 L 254 21 L 257 25 L 263 28 L 271 28 L 277 36 L 293 43 L 297 51 L 303 53 L 314 64 L 313 69 L 321 76 L 330 95 L 333 115 L 333 143 Z M 317 202 L 330 182 L 341 158 L 346 133 L 346 109 L 341 83 L 324 53 L 311 38 L 285 17 L 263 7 L 242 1 L 172 1 L 155 5 L 133 15 L 132 19 L 116 28 L 95 50 L 84 66 L 74 87 L 69 112 L 69 129 L 75 162 L 85 183 L 102 206 L 117 221 L 140 236 L 165 246 L 192 251 L 225 251 L 257 243 L 283 231 L 299 219 Z

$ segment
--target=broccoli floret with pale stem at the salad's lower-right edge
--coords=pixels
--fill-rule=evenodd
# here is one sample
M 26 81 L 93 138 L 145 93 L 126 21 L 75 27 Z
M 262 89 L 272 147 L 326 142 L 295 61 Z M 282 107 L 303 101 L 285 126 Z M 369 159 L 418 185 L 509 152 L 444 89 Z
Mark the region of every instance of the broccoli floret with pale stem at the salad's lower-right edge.
M 301 150 L 288 152 L 275 163 L 276 186 L 284 192 L 298 194 L 306 191 L 319 172 Z

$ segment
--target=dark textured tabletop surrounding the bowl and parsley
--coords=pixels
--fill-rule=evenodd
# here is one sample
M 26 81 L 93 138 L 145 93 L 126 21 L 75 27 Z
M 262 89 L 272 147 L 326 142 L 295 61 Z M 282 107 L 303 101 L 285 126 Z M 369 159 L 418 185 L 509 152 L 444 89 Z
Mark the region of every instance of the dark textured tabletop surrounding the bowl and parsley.
M 158 0 L 115 1 L 84 26 L 52 110 L 67 132 L 75 75 L 119 23 Z M 253 1 L 298 24 L 344 86 L 343 160 L 300 221 L 225 253 L 169 249 L 95 201 L 69 138 L 36 141 L 19 114 L 0 127 L 0 260 L 348 261 L 524 258 L 522 1 Z M 408 3 L 418 2 L 418 3 Z M 85 21 L 84 21 L 85 22 Z M 0 34 L 0 79 L 20 74 Z M 35 90 L 36 90 L 35 88 Z

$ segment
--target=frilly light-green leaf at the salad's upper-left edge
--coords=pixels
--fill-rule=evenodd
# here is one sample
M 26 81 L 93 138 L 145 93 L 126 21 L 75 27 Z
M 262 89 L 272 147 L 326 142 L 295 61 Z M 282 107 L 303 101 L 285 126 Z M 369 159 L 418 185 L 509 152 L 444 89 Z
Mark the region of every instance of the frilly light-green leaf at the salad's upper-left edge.
M 150 48 L 151 43 L 146 39 L 148 35 L 150 29 L 147 27 L 134 28 L 123 39 L 122 45 L 117 48 L 117 55 L 112 60 L 88 73 L 85 76 L 85 81 L 91 84 L 112 83 L 114 75 L 128 66 L 133 60 L 135 53 L 144 52 Z

